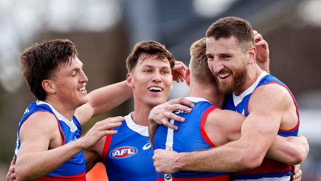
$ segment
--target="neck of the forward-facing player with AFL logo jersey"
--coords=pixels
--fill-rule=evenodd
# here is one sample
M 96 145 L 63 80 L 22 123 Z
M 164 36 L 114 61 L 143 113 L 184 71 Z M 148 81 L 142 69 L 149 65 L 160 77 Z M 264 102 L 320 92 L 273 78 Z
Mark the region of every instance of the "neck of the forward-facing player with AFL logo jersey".
M 154 106 L 136 100 L 134 97 L 134 112 L 131 114 L 133 121 L 140 126 L 148 126 L 148 116 Z

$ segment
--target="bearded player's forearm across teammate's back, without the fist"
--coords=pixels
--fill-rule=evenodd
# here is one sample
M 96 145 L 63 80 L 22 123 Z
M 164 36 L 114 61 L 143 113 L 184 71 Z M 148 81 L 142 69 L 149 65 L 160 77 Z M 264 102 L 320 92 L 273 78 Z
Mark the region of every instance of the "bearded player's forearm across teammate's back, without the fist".
M 252 145 L 240 146 L 237 141 L 205 151 L 179 153 L 180 170 L 208 172 L 238 172 L 259 166 L 263 156 L 258 156 Z

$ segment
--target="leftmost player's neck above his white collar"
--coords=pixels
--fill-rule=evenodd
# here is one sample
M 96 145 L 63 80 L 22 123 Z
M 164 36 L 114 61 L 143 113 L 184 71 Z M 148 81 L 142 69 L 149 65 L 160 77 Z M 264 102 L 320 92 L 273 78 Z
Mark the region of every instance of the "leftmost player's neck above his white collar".
M 68 108 L 66 104 L 63 104 L 63 102 L 61 102 L 60 100 L 54 97 L 46 97 L 44 101 L 52 105 L 52 107 L 55 108 L 56 111 L 58 111 L 61 115 L 63 115 L 69 121 L 73 120 L 73 116 L 76 112 L 76 108 Z

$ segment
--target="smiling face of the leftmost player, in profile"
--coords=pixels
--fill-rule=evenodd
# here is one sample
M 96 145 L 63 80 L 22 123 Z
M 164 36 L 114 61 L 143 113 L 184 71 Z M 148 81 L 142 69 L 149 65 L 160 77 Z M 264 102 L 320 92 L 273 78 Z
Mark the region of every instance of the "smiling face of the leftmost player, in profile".
M 53 79 L 56 95 L 68 107 L 78 108 L 88 101 L 85 85 L 88 79 L 82 71 L 82 62 L 72 58 L 71 65 L 58 67 Z

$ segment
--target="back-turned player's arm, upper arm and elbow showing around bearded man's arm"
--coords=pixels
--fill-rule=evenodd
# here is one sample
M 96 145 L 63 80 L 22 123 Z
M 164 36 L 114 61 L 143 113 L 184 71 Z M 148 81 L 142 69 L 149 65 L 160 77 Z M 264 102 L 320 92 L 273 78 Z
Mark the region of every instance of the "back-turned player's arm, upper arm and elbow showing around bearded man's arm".
M 208 114 L 204 130 L 215 145 L 223 145 L 241 137 L 244 115 L 230 110 L 215 109 Z M 265 157 L 288 165 L 301 163 L 309 152 L 309 144 L 304 136 L 277 136 Z

